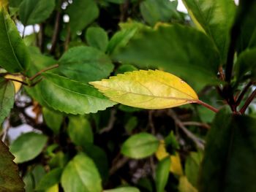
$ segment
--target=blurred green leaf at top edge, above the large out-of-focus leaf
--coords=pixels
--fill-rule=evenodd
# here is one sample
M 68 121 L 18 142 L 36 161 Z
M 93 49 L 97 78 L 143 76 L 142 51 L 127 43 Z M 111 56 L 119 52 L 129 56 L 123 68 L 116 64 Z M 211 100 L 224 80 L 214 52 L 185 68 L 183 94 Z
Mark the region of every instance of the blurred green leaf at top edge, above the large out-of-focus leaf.
M 140 3 L 140 12 L 143 19 L 154 26 L 157 22 L 169 22 L 181 18 L 176 10 L 177 6 L 178 1 L 146 0 Z

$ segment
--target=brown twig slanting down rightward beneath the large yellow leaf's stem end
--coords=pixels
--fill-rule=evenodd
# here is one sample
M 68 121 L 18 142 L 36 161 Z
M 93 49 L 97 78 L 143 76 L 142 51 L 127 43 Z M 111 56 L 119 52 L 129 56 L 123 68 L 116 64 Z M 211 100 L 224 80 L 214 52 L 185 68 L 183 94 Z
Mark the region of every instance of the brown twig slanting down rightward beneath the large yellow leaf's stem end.
M 194 134 L 192 134 L 191 131 L 189 131 L 184 124 L 181 122 L 181 120 L 178 119 L 177 115 L 173 110 L 168 110 L 167 115 L 169 115 L 171 118 L 173 118 L 176 125 L 181 128 L 182 131 L 184 131 L 185 134 L 187 134 L 187 137 L 192 139 L 193 142 L 195 142 L 195 145 L 197 145 L 198 148 L 204 149 L 204 141 L 203 139 L 197 138 Z

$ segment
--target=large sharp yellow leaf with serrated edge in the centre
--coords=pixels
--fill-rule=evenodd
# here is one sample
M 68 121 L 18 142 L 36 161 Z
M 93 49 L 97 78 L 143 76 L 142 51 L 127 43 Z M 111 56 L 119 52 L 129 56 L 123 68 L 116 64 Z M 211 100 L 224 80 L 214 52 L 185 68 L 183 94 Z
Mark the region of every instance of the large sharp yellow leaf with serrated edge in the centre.
M 198 101 L 186 82 L 159 70 L 126 72 L 90 84 L 112 101 L 143 109 L 160 110 Z

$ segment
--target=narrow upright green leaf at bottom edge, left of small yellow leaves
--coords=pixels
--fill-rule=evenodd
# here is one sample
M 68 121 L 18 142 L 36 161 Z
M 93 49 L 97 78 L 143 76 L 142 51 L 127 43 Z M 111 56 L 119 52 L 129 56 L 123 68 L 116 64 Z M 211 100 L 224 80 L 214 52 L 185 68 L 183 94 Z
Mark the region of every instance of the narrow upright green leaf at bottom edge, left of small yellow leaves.
M 164 192 L 170 171 L 170 156 L 167 156 L 157 164 L 156 186 L 157 192 Z

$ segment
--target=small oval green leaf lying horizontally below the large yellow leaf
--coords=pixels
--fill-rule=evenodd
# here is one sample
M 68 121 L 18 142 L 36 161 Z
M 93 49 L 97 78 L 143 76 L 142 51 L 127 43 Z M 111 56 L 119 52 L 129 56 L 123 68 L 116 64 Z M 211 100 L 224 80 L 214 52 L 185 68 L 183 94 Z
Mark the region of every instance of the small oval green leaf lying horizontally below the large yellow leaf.
M 121 147 L 121 153 L 129 158 L 146 158 L 154 154 L 159 140 L 151 134 L 140 133 L 129 137 Z

